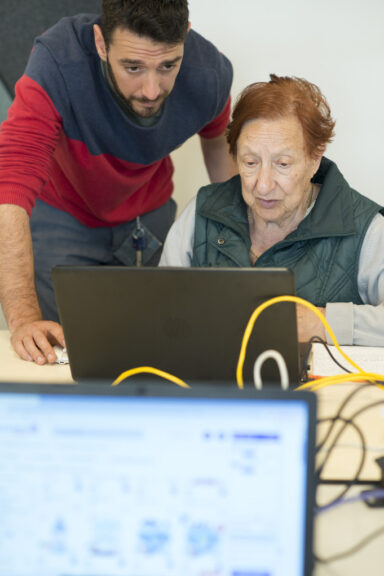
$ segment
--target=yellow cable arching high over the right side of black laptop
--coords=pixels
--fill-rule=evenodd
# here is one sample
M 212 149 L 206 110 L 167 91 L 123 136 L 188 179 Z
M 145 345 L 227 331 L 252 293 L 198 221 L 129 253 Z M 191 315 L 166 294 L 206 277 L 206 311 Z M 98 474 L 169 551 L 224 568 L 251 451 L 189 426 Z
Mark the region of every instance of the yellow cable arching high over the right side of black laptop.
M 239 360 L 237 362 L 237 368 L 236 368 L 236 381 L 237 381 L 237 385 L 240 389 L 244 388 L 243 366 L 244 366 L 245 354 L 246 354 L 246 350 L 247 350 L 248 341 L 251 337 L 255 322 L 256 322 L 257 318 L 260 316 L 260 314 L 266 308 L 269 308 L 269 306 L 273 306 L 274 304 L 277 304 L 278 302 L 295 302 L 297 304 L 303 304 L 304 306 L 306 306 L 307 308 L 312 310 L 312 312 L 314 312 L 316 314 L 316 316 L 324 324 L 326 330 L 329 333 L 329 336 L 330 336 L 333 344 L 336 347 L 336 350 L 338 350 L 340 352 L 340 354 L 345 358 L 345 360 L 347 360 L 347 362 L 349 362 L 354 368 L 356 368 L 356 370 L 358 370 L 360 373 L 364 372 L 364 370 L 362 368 L 360 368 L 360 366 L 358 364 L 356 364 L 351 358 L 349 358 L 349 356 L 347 356 L 347 354 L 345 354 L 345 352 L 343 350 L 341 350 L 341 348 L 340 348 L 340 346 L 336 340 L 336 336 L 333 333 L 332 328 L 328 324 L 324 315 L 316 308 L 316 306 L 314 306 L 313 304 L 311 304 L 307 300 L 304 300 L 303 298 L 299 298 L 298 296 L 276 296 L 275 298 L 270 298 L 269 300 L 266 300 L 266 302 L 263 302 L 262 304 L 260 304 L 260 306 L 258 306 L 254 310 L 250 319 L 248 320 L 248 324 L 247 324 L 247 327 L 244 331 L 244 336 L 243 336 L 243 339 L 241 342 Z

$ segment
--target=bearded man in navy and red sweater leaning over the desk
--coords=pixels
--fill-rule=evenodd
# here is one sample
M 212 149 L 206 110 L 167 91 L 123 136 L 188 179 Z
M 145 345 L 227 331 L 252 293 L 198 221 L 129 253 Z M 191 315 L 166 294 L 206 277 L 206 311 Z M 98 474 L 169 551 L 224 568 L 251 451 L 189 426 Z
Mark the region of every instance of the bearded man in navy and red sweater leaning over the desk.
M 0 133 L 0 299 L 25 360 L 64 345 L 53 266 L 157 264 L 173 150 L 198 133 L 210 180 L 232 174 L 232 67 L 188 16 L 187 0 L 103 0 L 35 41 Z

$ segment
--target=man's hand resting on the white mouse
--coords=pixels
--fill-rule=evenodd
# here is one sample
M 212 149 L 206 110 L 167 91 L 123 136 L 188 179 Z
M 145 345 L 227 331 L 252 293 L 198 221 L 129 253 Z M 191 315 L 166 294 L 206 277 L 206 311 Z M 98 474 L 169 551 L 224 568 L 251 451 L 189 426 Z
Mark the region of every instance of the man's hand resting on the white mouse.
M 47 320 L 19 326 L 11 336 L 11 343 L 21 358 L 40 365 L 55 362 L 56 354 L 53 345 L 65 346 L 60 324 Z

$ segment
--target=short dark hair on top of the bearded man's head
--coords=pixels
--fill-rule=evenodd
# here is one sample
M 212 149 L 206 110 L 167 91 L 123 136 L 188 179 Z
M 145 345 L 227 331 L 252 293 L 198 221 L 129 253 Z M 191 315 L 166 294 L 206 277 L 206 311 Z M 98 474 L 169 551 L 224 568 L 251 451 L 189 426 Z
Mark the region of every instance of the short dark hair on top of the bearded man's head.
M 188 0 L 103 0 L 101 29 L 108 49 L 116 28 L 165 44 L 185 42 Z

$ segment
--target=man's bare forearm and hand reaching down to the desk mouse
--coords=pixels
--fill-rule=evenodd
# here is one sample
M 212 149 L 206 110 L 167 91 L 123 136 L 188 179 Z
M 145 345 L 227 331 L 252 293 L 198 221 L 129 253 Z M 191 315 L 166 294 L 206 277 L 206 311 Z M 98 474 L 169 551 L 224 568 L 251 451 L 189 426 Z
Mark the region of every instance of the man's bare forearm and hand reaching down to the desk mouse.
M 56 360 L 52 343 L 64 346 L 62 328 L 42 320 L 34 284 L 28 214 L 20 206 L 0 205 L 0 300 L 11 342 L 24 360 Z

